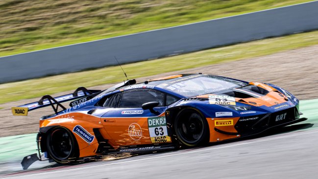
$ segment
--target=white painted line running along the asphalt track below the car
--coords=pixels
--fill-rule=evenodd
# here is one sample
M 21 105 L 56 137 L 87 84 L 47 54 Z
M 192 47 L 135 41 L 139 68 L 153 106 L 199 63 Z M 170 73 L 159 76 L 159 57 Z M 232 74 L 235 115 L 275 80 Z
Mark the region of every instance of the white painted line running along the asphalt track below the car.
M 96 166 L 108 166 L 108 165 L 116 165 L 116 164 L 122 164 L 122 163 L 130 163 L 130 162 L 137 162 L 137 161 L 143 161 L 143 160 L 151 160 L 151 159 L 156 159 L 156 158 L 164 158 L 164 157 L 170 157 L 170 156 L 175 156 L 175 155 L 183 155 L 183 154 L 189 154 L 189 153 L 199 153 L 199 152 L 204 152 L 204 151 L 213 151 L 213 150 L 218 150 L 218 149 L 224 149 L 224 148 L 231 148 L 231 147 L 236 147 L 236 146 L 242 146 L 242 145 L 247 145 L 247 144 L 254 144 L 254 143 L 259 143 L 259 142 L 266 142 L 266 141 L 271 141 L 271 140 L 276 140 L 276 139 L 283 139 L 283 138 L 289 138 L 289 137 L 294 137 L 294 136 L 300 136 L 300 135 L 308 135 L 312 133 L 318 133 L 318 130 L 313 130 L 313 131 L 297 131 L 296 133 L 291 133 L 290 135 L 286 135 L 286 133 L 281 134 L 281 136 L 277 137 L 272 137 L 272 138 L 267 138 L 267 139 L 256 139 L 253 141 L 249 142 L 236 142 L 238 144 L 232 144 L 232 145 L 226 145 L 226 146 L 220 146 L 220 147 L 206 147 L 202 149 L 196 149 L 196 150 L 190 150 L 190 151 L 178 151 L 176 153 L 170 153 L 170 154 L 164 154 L 160 156 L 150 156 L 150 157 L 144 157 L 144 158 L 138 158 L 138 159 L 132 159 L 128 161 L 120 161 L 120 162 L 115 162 L 115 163 L 100 163 L 98 162 L 97 164 L 91 164 L 89 166 L 83 166 L 83 167 L 78 167 L 78 168 L 70 168 L 70 169 L 61 169 L 61 170 L 56 170 L 56 171 L 45 171 L 45 172 L 36 172 L 32 174 L 26 174 L 26 175 L 20 175 L 20 176 L 12 176 L 12 177 L 7 177 L 4 179 L 14 179 L 14 178 L 21 178 L 21 177 L 30 177 L 30 176 L 36 176 L 36 175 L 41 175 L 41 174 L 49 174 L 49 173 L 57 173 L 57 172 L 67 172 L 67 171 L 74 171 L 74 170 L 82 170 L 82 169 L 88 169 L 88 168 L 93 168 Z

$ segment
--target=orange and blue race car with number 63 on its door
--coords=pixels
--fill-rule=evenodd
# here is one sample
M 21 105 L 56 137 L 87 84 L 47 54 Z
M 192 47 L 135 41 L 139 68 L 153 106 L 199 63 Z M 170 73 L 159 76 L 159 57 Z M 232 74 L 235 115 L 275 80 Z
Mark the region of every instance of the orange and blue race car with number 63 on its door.
M 70 108 L 61 104 L 67 101 Z M 40 119 L 39 157 L 44 153 L 57 163 L 195 147 L 307 120 L 300 118 L 297 98 L 278 86 L 204 74 L 132 79 L 103 91 L 79 87 L 12 107 L 12 113 L 27 115 L 45 106 L 54 114 Z M 37 159 L 25 157 L 24 168 Z

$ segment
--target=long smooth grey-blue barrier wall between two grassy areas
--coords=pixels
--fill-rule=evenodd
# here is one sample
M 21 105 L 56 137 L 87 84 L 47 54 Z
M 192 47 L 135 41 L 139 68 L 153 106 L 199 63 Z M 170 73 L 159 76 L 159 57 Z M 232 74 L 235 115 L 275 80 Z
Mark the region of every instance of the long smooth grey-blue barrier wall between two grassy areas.
M 0 58 L 0 83 L 318 29 L 318 1 Z M 213 60 L 213 59 L 211 59 Z

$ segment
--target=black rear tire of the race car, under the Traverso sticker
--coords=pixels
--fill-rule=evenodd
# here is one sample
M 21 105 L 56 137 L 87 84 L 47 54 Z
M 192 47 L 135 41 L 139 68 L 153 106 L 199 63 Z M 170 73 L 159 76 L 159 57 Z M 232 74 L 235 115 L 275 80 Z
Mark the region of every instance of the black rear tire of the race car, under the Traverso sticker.
M 67 128 L 56 127 L 47 135 L 49 156 L 57 163 L 70 163 L 78 159 L 78 145 Z

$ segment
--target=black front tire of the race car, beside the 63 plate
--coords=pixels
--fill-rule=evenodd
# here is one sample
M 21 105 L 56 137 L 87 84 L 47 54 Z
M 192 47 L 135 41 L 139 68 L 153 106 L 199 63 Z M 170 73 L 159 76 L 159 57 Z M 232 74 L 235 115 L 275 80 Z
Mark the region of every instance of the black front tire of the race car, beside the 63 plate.
M 178 140 L 189 147 L 209 142 L 209 125 L 199 111 L 191 108 L 181 110 L 174 120 L 174 131 Z

